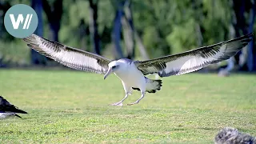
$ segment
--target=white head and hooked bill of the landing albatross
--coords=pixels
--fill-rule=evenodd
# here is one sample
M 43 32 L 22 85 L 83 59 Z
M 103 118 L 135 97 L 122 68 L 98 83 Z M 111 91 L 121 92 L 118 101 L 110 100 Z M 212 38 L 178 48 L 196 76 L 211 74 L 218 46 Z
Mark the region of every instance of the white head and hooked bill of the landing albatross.
M 104 79 L 111 74 L 111 73 L 118 73 L 122 70 L 126 70 L 126 62 L 118 60 L 118 61 L 113 61 L 109 63 L 109 70 L 107 70 L 106 74 L 104 75 Z

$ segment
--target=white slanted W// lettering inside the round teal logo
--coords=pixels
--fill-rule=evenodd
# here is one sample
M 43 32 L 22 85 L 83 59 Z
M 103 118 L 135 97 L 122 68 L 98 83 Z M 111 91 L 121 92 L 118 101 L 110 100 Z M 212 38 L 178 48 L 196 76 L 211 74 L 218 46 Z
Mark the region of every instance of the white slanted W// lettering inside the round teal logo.
M 18 26 L 21 22 L 23 24 L 22 29 L 28 29 L 30 27 L 30 22 L 31 22 L 31 18 L 32 18 L 33 14 L 26 14 L 26 19 L 25 19 L 24 23 L 23 23 L 24 18 L 23 18 L 22 14 L 18 14 L 18 18 L 17 18 L 16 21 L 15 21 L 15 18 L 14 18 L 14 14 L 9 14 L 9 15 L 10 15 L 10 21 L 13 24 L 13 27 L 14 27 L 15 30 L 18 29 Z

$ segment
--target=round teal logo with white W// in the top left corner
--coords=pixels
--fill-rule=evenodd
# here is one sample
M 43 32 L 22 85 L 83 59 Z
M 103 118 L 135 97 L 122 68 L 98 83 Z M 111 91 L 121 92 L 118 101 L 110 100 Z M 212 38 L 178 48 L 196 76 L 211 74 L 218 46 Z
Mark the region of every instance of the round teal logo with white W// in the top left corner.
M 18 4 L 7 10 L 4 25 L 9 34 L 16 38 L 26 38 L 38 27 L 38 15 L 30 6 Z

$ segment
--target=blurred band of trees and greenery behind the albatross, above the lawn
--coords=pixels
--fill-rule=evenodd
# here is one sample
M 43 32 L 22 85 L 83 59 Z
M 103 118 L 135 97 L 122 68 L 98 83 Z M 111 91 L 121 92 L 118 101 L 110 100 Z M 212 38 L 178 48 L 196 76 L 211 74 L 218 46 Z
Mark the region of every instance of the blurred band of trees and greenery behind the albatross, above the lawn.
M 37 11 L 35 34 L 108 58 L 176 54 L 254 32 L 255 26 L 254 0 L 2 0 L 0 18 L 18 3 Z M 6 33 L 3 20 L 0 38 L 2 66 L 49 63 Z M 237 55 L 240 70 L 256 70 L 253 47 Z

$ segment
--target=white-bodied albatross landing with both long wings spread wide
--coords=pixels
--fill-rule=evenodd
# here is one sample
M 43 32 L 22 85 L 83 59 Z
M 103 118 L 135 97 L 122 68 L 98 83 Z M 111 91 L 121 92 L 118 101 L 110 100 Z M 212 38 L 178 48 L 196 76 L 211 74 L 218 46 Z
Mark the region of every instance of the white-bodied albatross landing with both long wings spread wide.
M 169 77 L 190 73 L 210 64 L 221 62 L 237 54 L 251 41 L 252 35 L 247 34 L 226 42 L 146 61 L 132 61 L 127 58 L 110 60 L 98 54 L 41 38 L 36 34 L 23 38 L 23 40 L 27 42 L 27 46 L 38 51 L 38 53 L 72 69 L 105 74 L 104 79 L 109 74 L 114 73 L 122 81 L 125 97 L 111 105 L 122 106 L 122 102 L 128 98 L 132 90 L 140 90 L 141 97 L 137 101 L 128 104 L 130 106 L 140 102 L 146 92 L 155 93 L 161 89 L 162 80 L 146 78 L 145 75 L 158 74 L 160 77 Z

